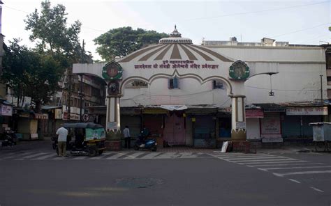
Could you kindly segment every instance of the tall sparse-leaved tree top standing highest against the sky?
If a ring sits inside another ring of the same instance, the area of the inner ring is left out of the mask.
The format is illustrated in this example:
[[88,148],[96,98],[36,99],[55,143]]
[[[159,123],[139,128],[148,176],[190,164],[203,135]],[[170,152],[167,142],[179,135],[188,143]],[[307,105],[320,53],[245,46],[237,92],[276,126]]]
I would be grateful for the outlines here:
[[51,8],[50,1],[41,2],[41,13],[34,10],[24,22],[26,30],[31,31],[29,39],[37,42],[40,50],[51,55],[66,57],[67,66],[78,63],[84,57],[80,46],[79,33],[82,24],[77,20],[67,27],[66,7],[58,4]]

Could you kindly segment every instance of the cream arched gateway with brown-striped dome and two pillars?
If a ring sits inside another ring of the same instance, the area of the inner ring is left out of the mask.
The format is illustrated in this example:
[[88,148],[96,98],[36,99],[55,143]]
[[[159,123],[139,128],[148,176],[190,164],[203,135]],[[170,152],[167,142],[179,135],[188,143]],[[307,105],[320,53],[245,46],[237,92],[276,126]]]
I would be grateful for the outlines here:
[[[229,56],[215,52],[213,49],[193,45],[190,39],[182,38],[177,29],[170,33],[169,38],[161,39],[158,45],[140,49],[116,62],[112,62],[112,64],[117,65],[112,66],[112,68],[120,68],[121,77],[117,78],[118,73],[116,73],[116,78],[110,77],[112,75],[112,72],[110,72],[111,67],[107,68],[108,65],[105,65],[105,63],[78,64],[73,67],[76,73],[94,74],[104,78],[104,74],[108,74],[109,71],[110,76],[106,76],[105,81],[108,82],[108,90],[112,89],[113,92],[108,93],[106,101],[106,127],[108,129],[120,128],[120,104],[122,104],[120,102],[131,98],[134,93],[144,93],[140,89],[139,92],[135,90],[131,91],[133,93],[132,95],[129,94],[126,89],[128,82],[133,80],[144,81],[148,84],[147,88],[145,88],[146,93],[152,95],[159,94],[164,97],[163,99],[166,99],[165,97],[171,98],[179,97],[180,95],[190,95],[194,92],[199,93],[200,90],[201,93],[204,91],[208,92],[207,83],[213,80],[219,80],[223,82],[226,88],[226,94],[224,93],[223,95],[231,99],[229,104],[232,106],[231,138],[233,140],[246,139],[244,82],[249,77],[257,74],[278,72],[277,63],[245,63],[240,61],[240,59],[230,58]],[[185,81],[185,89],[169,90],[169,85],[166,86],[164,82],[173,78]],[[197,86],[196,82],[200,86]],[[117,88],[117,92],[115,90],[115,83],[119,87]],[[182,106],[197,105],[199,102],[205,105],[204,103],[207,102],[207,98],[209,98],[207,95],[205,97],[196,95],[196,98],[191,97],[190,100],[178,102]],[[216,97],[212,98],[215,99],[214,102],[211,102],[212,104],[221,105],[221,102],[216,102]],[[178,102],[168,100],[153,102],[151,100],[142,106],[151,106],[151,104],[155,106],[154,103],[170,106]],[[207,102],[207,104],[210,104],[210,102]],[[194,122],[195,118],[191,118],[191,120]]]

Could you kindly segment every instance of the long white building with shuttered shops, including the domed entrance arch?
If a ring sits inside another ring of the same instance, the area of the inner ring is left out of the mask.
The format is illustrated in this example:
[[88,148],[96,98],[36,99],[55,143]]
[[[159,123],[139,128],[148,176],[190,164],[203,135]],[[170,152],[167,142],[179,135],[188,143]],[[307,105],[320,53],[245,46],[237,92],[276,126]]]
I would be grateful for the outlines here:
[[146,125],[160,141],[207,147],[300,136],[290,125],[311,135],[307,122],[328,119],[325,65],[324,47],[269,38],[193,45],[175,28],[159,45],[107,64],[74,64],[73,73],[107,82],[106,106],[91,108],[107,129],[128,125],[137,136]]

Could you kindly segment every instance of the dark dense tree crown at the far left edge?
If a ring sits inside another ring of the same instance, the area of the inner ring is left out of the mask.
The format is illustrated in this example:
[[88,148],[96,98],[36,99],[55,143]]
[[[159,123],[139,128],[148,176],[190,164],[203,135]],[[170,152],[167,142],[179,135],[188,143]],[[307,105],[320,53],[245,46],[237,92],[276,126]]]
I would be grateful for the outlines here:
[[19,42],[14,39],[4,52],[2,79],[13,88],[15,97],[31,97],[36,111],[41,112],[41,105],[59,89],[64,67],[56,56],[20,46]]

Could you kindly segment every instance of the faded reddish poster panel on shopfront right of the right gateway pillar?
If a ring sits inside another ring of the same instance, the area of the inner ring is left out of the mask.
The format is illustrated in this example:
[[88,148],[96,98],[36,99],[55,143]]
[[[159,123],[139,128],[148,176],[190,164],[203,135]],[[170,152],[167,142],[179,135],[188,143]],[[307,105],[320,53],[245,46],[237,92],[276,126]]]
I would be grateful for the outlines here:
[[260,119],[261,134],[281,134],[279,114],[267,115]]

